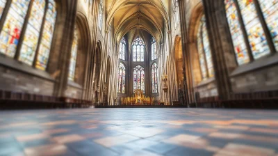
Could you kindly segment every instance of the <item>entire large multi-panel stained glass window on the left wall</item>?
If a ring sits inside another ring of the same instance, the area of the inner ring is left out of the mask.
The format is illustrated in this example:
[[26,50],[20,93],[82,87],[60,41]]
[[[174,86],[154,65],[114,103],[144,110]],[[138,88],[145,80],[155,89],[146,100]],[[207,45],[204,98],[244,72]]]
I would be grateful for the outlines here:
[[[5,18],[0,33],[0,52],[45,70],[56,22],[54,0],[12,1],[6,17],[3,17],[5,4],[6,1],[0,1],[0,16]],[[30,15],[26,18],[28,10]]]

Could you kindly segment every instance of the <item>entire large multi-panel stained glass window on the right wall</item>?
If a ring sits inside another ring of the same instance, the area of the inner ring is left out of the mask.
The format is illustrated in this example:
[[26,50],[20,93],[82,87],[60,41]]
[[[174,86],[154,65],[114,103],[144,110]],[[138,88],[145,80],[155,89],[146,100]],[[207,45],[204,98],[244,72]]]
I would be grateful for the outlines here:
[[[225,0],[224,2],[239,65],[270,54],[270,46],[278,49],[277,1]],[[260,18],[261,13],[264,18]],[[267,25],[263,26],[265,23]],[[268,42],[270,40],[272,42]]]

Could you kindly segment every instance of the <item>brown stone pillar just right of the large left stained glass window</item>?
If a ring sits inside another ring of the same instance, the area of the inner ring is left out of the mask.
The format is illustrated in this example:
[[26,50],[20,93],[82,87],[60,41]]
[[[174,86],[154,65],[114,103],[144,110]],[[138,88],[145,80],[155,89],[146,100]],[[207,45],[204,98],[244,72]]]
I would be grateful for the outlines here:
[[[72,42],[74,39],[74,26],[76,21],[76,6],[77,0],[62,1],[60,6],[61,12],[65,13],[60,15],[59,23],[63,24],[63,28],[59,27],[60,36],[57,38],[57,42],[54,48],[54,54],[49,59],[49,65],[57,63],[56,84],[54,86],[54,96],[63,97],[67,89],[67,77],[70,67],[70,56],[72,52]],[[58,41],[60,40],[60,41]],[[57,57],[55,59],[55,57]],[[54,69],[49,69],[50,73],[53,73]]]

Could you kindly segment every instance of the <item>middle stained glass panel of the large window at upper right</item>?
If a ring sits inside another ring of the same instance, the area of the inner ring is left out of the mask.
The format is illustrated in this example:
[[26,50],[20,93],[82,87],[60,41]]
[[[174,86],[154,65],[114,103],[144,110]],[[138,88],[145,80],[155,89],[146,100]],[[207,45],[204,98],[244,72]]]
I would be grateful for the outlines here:
[[270,54],[268,42],[253,0],[238,1],[254,59]]

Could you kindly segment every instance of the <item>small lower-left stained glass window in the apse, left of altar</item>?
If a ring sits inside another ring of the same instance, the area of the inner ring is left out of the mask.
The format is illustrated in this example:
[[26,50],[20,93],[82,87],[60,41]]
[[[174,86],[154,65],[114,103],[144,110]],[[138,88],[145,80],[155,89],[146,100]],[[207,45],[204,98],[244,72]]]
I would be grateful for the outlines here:
[[119,64],[118,71],[118,84],[117,84],[117,93],[125,93],[126,88],[126,67],[123,63]]

